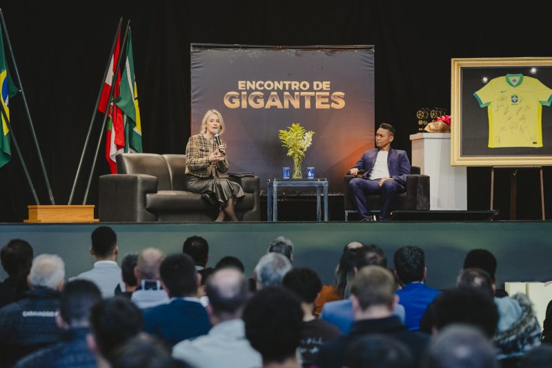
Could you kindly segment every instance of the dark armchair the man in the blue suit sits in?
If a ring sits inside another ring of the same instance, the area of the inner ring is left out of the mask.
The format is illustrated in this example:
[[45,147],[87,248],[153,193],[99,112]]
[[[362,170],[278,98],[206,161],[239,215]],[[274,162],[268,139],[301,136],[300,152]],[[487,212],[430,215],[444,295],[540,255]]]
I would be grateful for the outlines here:
[[[353,179],[353,175],[345,175],[345,221],[348,214],[357,212],[353,204],[353,193],[349,188],[349,182]],[[366,195],[366,203],[368,209],[373,212],[379,212],[382,208],[382,200],[380,195]],[[418,166],[411,166],[411,174],[406,177],[406,192],[397,194],[393,210],[408,210],[408,211],[428,211],[429,209],[429,177],[428,175],[420,175]]]

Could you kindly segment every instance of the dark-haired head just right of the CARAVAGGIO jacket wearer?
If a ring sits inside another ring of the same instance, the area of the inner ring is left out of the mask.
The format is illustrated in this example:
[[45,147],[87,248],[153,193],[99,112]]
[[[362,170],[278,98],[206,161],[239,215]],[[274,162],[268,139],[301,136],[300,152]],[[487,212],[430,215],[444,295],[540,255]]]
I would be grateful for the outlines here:
[[65,284],[59,299],[59,313],[72,328],[88,327],[90,311],[101,300],[101,291],[88,280],[72,280]]

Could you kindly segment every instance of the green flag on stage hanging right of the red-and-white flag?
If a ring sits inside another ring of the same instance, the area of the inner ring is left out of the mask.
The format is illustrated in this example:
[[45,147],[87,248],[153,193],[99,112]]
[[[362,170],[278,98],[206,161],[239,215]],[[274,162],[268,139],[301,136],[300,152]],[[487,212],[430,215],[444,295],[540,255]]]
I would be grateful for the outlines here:
[[134,74],[134,58],[132,57],[132,32],[128,30],[126,43],[126,62],[121,84],[119,84],[119,98],[115,104],[124,113],[125,152],[144,152],[142,150],[142,130],[140,110],[138,108],[138,89]]

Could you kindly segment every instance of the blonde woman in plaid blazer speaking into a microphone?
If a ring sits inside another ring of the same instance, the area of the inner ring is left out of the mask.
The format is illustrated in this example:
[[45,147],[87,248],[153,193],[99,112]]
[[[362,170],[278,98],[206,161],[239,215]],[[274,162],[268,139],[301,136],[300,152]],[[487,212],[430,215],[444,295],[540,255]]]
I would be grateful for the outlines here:
[[217,144],[215,133],[222,135],[225,126],[222,115],[217,110],[208,110],[201,121],[201,131],[193,135],[186,145],[186,189],[194,193],[204,193],[213,203],[220,205],[215,221],[237,221],[235,204],[244,197],[242,186],[219,177],[228,171],[226,142]]

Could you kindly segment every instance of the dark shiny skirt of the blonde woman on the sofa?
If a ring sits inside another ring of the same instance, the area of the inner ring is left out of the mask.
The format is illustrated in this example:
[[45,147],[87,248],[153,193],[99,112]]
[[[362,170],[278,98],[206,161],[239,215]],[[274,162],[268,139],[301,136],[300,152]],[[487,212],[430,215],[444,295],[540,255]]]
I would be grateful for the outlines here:
[[187,174],[184,177],[184,185],[190,192],[206,194],[213,204],[225,204],[232,197],[245,197],[242,186],[224,177],[204,179]]

